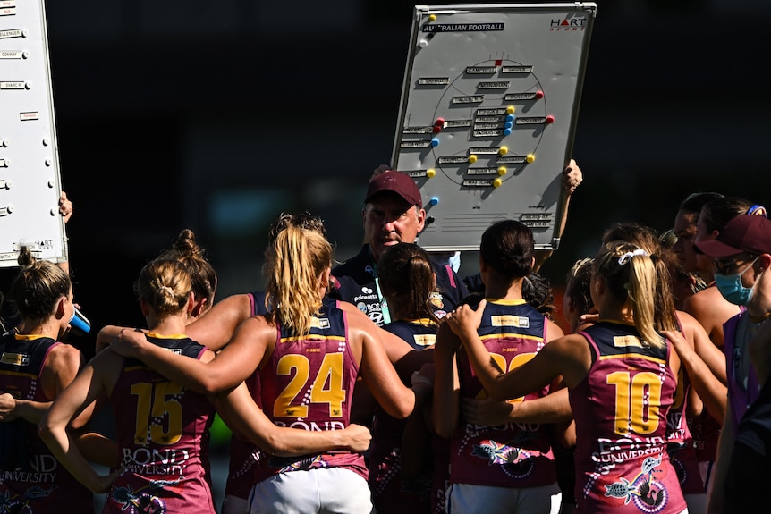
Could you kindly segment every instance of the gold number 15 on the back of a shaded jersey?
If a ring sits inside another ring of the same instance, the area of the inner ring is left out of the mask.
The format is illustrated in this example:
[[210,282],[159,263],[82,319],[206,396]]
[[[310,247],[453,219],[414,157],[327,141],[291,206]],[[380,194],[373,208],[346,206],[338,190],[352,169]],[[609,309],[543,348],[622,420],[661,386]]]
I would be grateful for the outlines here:
[[[176,398],[182,393],[178,383],[135,383],[131,394],[137,396],[137,426],[134,443],[174,444],[182,436],[182,405]],[[149,425],[150,417],[165,417],[165,424]]]

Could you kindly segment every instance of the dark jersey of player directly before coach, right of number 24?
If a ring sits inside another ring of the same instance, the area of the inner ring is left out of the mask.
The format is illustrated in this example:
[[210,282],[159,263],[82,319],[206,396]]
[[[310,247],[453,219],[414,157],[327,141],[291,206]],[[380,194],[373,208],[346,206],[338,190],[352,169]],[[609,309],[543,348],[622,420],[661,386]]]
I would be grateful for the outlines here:
[[[400,320],[383,326],[384,330],[401,337],[415,350],[424,350],[427,346],[434,344],[436,328],[436,324],[428,319],[414,322]],[[405,385],[409,387],[409,384]],[[430,440],[433,431],[428,429],[429,434],[425,437],[426,446],[422,449],[426,470],[409,480],[404,479],[402,477],[402,436],[405,426],[407,426],[407,420],[391,417],[380,405],[375,406],[372,444],[369,447],[367,462],[372,503],[377,512],[427,514],[429,511],[434,511],[430,510],[435,499],[432,495],[432,486],[436,480],[432,465],[442,459],[433,454],[435,448]],[[447,450],[448,448],[445,447],[445,454]],[[444,475],[440,474],[440,483],[444,481]]]

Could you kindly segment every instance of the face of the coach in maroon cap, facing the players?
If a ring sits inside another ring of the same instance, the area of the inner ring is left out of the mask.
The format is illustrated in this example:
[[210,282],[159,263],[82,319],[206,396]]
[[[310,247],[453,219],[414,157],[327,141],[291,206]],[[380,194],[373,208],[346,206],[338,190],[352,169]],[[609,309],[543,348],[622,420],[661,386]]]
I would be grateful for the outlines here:
[[376,261],[386,247],[414,243],[426,224],[425,210],[388,191],[371,198],[362,215],[364,240]]

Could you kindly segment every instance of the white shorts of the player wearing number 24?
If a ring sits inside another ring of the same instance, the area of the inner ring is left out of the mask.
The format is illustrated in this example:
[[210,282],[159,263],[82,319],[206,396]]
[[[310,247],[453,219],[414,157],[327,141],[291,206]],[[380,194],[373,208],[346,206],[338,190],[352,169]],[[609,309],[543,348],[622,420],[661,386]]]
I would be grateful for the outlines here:
[[250,514],[374,514],[369,485],[343,468],[271,476],[251,488]]

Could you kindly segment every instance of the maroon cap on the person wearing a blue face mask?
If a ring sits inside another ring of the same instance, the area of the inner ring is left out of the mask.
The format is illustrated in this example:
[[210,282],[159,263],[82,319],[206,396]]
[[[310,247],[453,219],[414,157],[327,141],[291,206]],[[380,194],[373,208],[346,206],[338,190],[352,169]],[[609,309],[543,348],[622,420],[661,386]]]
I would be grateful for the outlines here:
[[742,252],[771,254],[771,220],[762,215],[738,215],[716,239],[694,243],[707,257],[731,257]]

